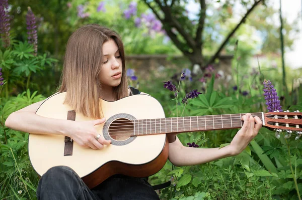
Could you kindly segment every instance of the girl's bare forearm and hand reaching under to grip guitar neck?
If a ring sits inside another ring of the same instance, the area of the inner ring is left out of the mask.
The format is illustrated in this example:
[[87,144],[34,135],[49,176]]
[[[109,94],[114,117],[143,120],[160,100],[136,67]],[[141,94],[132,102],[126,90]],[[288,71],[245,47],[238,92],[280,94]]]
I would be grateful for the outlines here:
[[242,128],[237,132],[231,144],[223,148],[185,147],[176,137],[176,140],[169,145],[169,160],[176,166],[188,166],[240,154],[262,126],[260,118],[252,117],[250,113],[242,116],[242,120],[244,121]]

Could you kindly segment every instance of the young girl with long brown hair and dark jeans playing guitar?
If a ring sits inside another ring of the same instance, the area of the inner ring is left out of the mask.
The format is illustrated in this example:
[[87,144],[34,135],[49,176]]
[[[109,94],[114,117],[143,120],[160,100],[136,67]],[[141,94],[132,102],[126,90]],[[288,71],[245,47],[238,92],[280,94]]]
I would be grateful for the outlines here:
[[[99,135],[95,126],[101,119],[99,98],[116,101],[132,94],[125,70],[123,43],[112,30],[99,25],[86,25],[68,40],[61,85],[66,92],[65,104],[91,121],[52,119],[35,114],[44,102],[34,103],[12,113],[6,126],[29,133],[68,136],[85,148],[102,149],[111,145]],[[242,116],[243,127],[229,146],[223,148],[185,147],[176,135],[169,135],[169,160],[176,166],[196,165],[241,153],[262,126],[259,117]],[[114,175],[89,189],[71,168],[50,168],[40,179],[38,199],[159,199],[144,178]]]

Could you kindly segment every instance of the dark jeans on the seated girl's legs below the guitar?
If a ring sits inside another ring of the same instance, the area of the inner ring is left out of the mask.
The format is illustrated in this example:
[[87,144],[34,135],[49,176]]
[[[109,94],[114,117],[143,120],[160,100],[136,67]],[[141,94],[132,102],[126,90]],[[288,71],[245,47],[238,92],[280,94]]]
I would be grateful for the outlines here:
[[40,179],[37,198],[46,199],[160,199],[143,178],[114,175],[89,189],[77,173],[67,166],[50,168]]

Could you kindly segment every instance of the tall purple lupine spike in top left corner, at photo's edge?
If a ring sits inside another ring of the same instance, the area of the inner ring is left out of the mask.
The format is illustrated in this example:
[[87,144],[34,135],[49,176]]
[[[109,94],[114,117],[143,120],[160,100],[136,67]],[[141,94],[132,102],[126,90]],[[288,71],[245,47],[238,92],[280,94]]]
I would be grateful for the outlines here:
[[8,14],[8,0],[0,0],[0,34],[3,47],[8,48],[10,44],[11,16]]

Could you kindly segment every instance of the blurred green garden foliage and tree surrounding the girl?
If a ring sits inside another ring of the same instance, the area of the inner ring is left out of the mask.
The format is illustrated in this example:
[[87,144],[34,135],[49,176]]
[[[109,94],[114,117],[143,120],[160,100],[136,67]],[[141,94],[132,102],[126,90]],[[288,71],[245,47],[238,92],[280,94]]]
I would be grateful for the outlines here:
[[[192,3],[199,8],[197,13],[188,10]],[[277,89],[283,110],[301,110],[301,69],[282,62],[283,51],[289,51],[301,34],[301,16],[289,22],[273,7],[276,3],[1,0],[0,198],[36,198],[38,177],[28,158],[28,133],[8,129],[5,120],[56,92],[67,40],[85,24],[103,25],[120,34],[127,61],[131,60],[126,62],[132,70],[130,85],[157,98],[167,117],[266,112],[264,79]],[[157,56],[167,58],[165,65]],[[229,64],[221,64],[222,56]],[[143,66],[141,57],[155,64]],[[182,72],[187,76],[179,81]],[[168,80],[180,86],[176,101],[163,87]],[[193,89],[203,94],[182,104]],[[179,138],[184,145],[219,147],[230,143],[236,132],[184,133]],[[296,135],[287,136],[276,139],[274,131],[262,128],[238,156],[190,167],[168,161],[149,182],[172,181],[158,191],[161,199],[300,199],[302,146]]]

